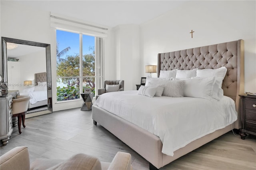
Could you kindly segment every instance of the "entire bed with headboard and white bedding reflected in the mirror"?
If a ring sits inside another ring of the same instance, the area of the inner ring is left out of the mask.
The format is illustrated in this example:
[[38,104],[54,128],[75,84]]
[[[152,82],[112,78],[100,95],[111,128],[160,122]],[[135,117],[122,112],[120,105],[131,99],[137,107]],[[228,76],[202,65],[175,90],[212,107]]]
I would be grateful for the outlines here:
[[20,95],[30,96],[28,111],[47,106],[46,72],[36,73],[34,86],[26,87]]

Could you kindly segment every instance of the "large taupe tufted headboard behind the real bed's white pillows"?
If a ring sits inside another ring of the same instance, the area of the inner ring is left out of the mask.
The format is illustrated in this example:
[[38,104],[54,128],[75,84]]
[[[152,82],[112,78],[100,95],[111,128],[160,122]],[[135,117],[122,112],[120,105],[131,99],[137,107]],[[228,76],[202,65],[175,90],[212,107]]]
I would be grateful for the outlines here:
[[238,121],[235,128],[239,129],[241,116],[238,94],[244,93],[244,40],[160,53],[157,76],[159,77],[160,70],[216,69],[222,66],[228,69],[222,89],[225,96],[236,102]]

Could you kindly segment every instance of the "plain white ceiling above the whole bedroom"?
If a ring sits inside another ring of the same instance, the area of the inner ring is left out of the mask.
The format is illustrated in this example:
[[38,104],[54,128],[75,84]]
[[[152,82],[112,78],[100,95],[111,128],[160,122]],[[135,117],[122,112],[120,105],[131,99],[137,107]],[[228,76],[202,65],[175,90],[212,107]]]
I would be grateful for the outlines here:
[[[2,1],[2,0],[1,0]],[[54,12],[108,27],[142,24],[187,2],[185,0],[18,0],[18,6]]]

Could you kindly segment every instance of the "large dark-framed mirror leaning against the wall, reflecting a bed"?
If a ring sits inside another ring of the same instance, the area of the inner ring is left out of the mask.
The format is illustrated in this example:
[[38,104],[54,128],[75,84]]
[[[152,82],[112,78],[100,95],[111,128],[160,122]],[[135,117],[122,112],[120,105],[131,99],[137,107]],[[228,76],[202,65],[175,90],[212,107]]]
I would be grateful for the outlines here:
[[52,112],[50,44],[2,37],[2,64],[8,90],[30,96],[26,118]]

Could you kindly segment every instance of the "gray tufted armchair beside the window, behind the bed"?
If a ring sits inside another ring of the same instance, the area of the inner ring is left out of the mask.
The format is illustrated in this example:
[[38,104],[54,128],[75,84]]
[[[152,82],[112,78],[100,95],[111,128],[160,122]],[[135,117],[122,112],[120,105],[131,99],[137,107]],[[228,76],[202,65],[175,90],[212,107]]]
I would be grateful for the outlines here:
[[116,88],[115,91],[124,91],[124,80],[105,80],[104,81],[104,88],[98,89],[98,95],[96,96],[97,98],[100,96],[100,94],[106,93],[106,92],[113,92],[112,89],[108,89],[108,85],[119,85],[118,88]]

